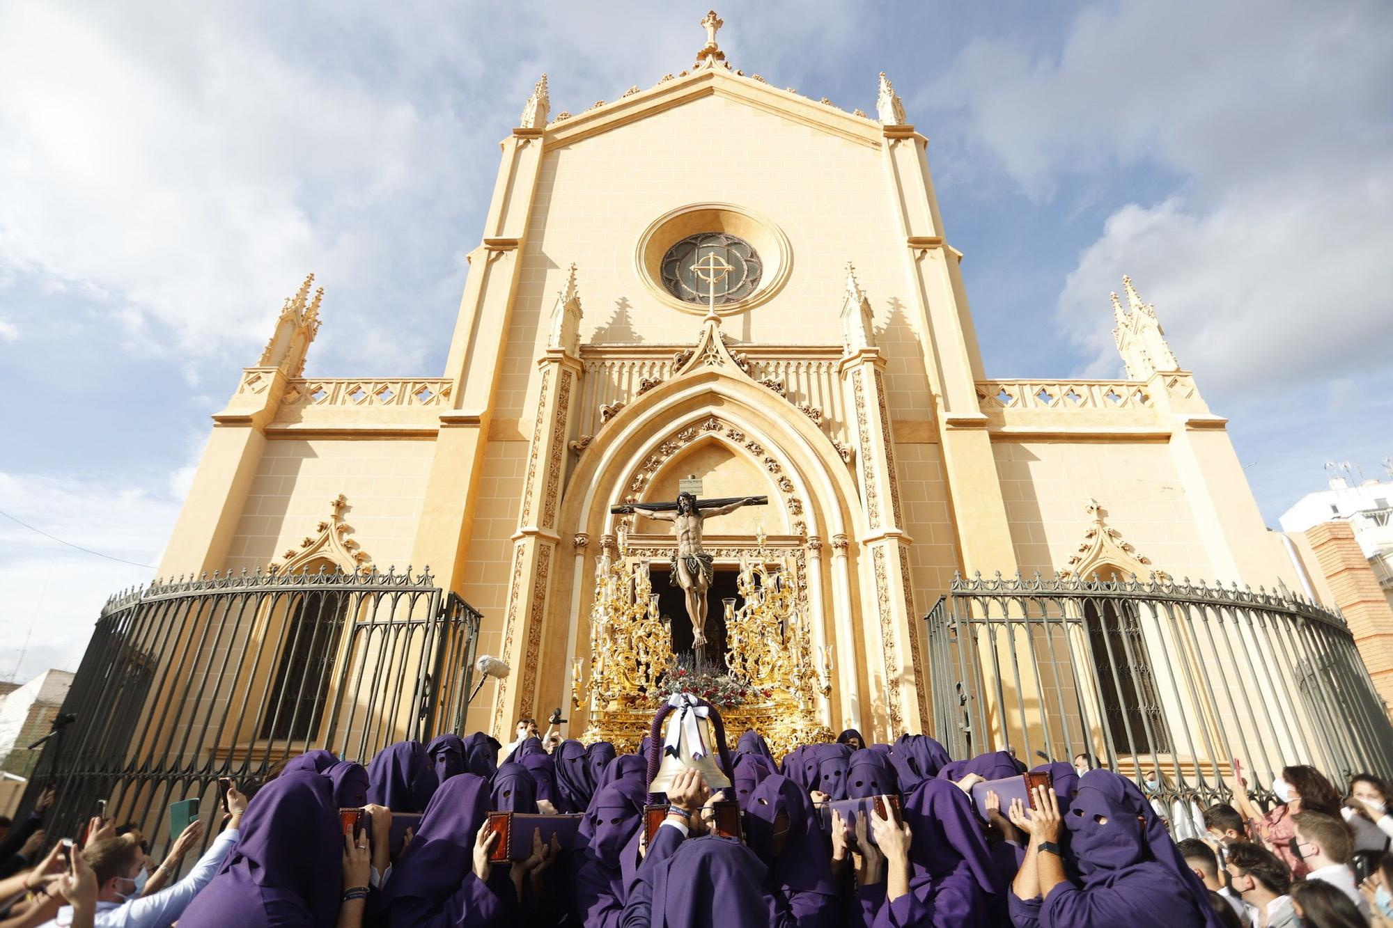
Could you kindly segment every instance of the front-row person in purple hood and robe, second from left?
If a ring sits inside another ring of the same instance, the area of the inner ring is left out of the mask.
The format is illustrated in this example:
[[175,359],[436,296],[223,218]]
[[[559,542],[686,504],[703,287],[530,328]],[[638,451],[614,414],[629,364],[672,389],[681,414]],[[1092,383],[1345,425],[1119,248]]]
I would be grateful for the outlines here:
[[489,783],[483,778],[460,773],[440,784],[383,889],[382,907],[391,928],[515,922],[511,886],[500,896],[474,874],[474,839],[488,812]]

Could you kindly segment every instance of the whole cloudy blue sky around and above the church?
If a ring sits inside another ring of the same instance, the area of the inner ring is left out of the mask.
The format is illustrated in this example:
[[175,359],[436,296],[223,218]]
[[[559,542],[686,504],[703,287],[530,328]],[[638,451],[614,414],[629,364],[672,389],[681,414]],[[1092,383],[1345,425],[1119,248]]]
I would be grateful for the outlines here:
[[[0,6],[0,510],[156,563],[209,414],[311,270],[309,372],[437,375],[532,82],[553,111],[651,86],[706,6]],[[1393,454],[1389,4],[720,14],[779,86],[873,111],[894,81],[989,376],[1121,376],[1130,273],[1269,524],[1325,460]],[[75,667],[149,574],[0,517],[0,679]]]

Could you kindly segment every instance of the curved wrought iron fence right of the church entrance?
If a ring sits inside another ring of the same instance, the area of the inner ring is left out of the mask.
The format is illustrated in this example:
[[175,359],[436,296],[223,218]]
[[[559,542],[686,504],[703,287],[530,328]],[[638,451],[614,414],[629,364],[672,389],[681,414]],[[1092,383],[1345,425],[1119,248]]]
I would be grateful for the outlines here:
[[1284,765],[1393,775],[1393,726],[1339,613],[1169,581],[957,578],[926,616],[935,730],[954,757],[1081,752],[1166,803],[1255,798]]

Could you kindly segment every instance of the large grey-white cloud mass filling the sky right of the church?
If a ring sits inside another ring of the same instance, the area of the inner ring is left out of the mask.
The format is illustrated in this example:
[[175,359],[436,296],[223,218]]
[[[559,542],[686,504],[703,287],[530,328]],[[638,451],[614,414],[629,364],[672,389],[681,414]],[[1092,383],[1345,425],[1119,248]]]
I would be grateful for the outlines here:
[[974,139],[1032,198],[1119,169],[1178,178],[1116,209],[1061,288],[1091,373],[1120,368],[1107,293],[1123,273],[1211,399],[1382,369],[1389,47],[1386,4],[1287,0],[1121,3],[1081,13],[1057,54],[964,49],[953,86]]

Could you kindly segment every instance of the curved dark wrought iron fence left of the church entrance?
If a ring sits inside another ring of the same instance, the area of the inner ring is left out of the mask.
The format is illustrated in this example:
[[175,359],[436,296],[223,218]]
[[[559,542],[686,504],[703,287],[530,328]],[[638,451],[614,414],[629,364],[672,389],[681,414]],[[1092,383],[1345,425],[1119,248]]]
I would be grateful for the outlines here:
[[198,796],[216,823],[217,778],[255,787],[311,748],[366,764],[458,732],[479,620],[410,571],[215,574],[113,598],[63,702],[75,720],[43,747],[21,808],[52,783],[50,836],[109,800],[163,844],[171,801]]

